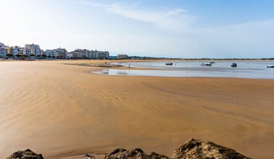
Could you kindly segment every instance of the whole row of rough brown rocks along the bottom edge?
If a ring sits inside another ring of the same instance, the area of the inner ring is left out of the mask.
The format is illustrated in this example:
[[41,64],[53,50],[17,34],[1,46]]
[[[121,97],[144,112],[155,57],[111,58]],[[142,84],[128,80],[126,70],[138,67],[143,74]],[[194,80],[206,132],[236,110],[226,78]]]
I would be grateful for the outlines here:
[[[185,143],[177,148],[172,159],[250,159],[236,150],[219,146],[210,141],[202,141],[194,138],[188,139]],[[17,151],[6,159],[43,159],[41,154],[33,153],[31,150]],[[92,155],[85,154],[82,159],[96,159]],[[126,150],[124,148],[117,148],[113,152],[102,155],[97,159],[168,159],[165,155],[160,155],[154,152],[144,153],[140,148],[134,150]]]

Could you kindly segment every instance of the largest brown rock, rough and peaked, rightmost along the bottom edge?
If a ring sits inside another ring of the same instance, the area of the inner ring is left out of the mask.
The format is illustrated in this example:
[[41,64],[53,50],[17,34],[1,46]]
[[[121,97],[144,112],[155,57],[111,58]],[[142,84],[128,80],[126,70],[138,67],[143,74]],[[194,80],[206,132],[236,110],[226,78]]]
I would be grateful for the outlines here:
[[236,150],[233,150],[231,148],[226,148],[210,141],[202,141],[194,138],[188,139],[185,143],[182,143],[182,145],[174,151],[172,159],[177,158],[249,159],[248,157],[237,153]]

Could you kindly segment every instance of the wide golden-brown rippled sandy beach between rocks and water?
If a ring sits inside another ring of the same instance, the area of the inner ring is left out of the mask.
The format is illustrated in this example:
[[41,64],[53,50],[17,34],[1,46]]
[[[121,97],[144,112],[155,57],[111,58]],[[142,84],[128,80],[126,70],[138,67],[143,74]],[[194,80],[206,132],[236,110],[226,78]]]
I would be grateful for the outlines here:
[[104,62],[115,61],[0,62],[0,158],[26,148],[44,158],[171,156],[187,138],[274,158],[274,80],[90,73]]

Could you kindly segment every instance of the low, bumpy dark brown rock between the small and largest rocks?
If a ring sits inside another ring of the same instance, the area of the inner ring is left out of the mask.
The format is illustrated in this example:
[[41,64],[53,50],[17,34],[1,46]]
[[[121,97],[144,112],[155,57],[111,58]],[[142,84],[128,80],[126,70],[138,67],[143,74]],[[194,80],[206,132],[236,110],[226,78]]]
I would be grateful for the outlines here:
[[112,153],[108,155],[102,155],[98,159],[168,159],[165,155],[160,155],[158,153],[149,152],[143,153],[141,148],[136,148],[134,150],[126,150],[124,148],[115,149]]

